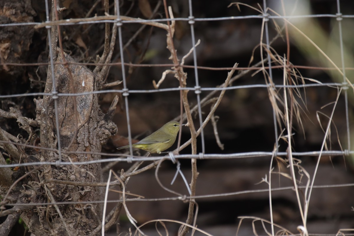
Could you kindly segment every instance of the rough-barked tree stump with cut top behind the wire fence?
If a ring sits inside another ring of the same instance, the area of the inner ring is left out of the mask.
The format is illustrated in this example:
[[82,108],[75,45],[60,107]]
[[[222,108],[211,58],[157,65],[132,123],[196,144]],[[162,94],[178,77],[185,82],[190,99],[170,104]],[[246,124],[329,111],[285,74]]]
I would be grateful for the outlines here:
[[[64,68],[62,64],[55,65],[55,87],[58,93],[84,93],[96,90],[96,76],[89,69],[80,65],[70,65],[70,62],[75,61],[68,55],[65,55],[65,61],[69,63],[68,69]],[[61,53],[58,55],[57,62],[63,63]],[[51,80],[50,74],[48,73],[48,80]],[[53,91],[52,83],[47,82],[45,93]],[[102,144],[115,134],[116,126],[112,122],[105,121],[104,114],[99,109],[98,95],[89,93],[75,97],[58,96],[59,127],[56,125],[55,99],[55,95],[35,99],[36,120],[40,124],[41,147],[58,149],[58,128],[63,150],[62,161],[99,160],[100,155],[68,153],[75,151],[101,152]],[[51,162],[59,160],[58,152],[51,150],[42,150],[37,158],[41,161]],[[100,163],[66,166],[46,165],[39,175],[40,182],[44,179],[73,182],[102,182],[103,180]],[[104,198],[103,187],[47,183],[44,188],[39,188],[41,185],[38,182],[32,182],[30,186],[44,193],[44,196],[36,196],[36,198],[42,198],[45,202],[90,202]],[[33,199],[33,195],[31,197],[28,198],[28,201]],[[87,203],[58,205],[58,208],[38,206],[35,211],[23,213],[21,217],[35,235],[87,235],[101,224],[102,211],[100,205]]]

